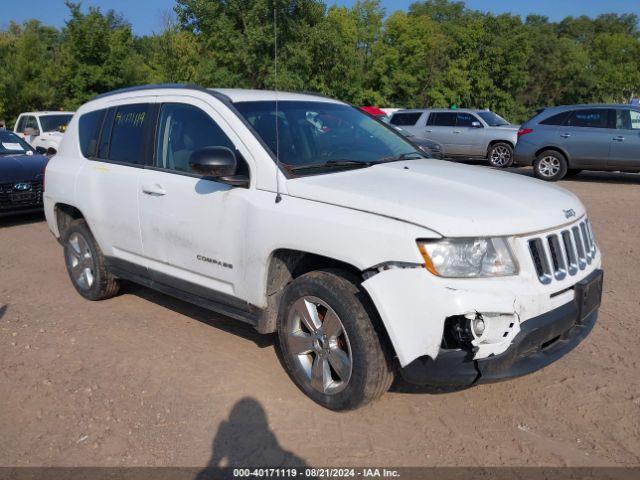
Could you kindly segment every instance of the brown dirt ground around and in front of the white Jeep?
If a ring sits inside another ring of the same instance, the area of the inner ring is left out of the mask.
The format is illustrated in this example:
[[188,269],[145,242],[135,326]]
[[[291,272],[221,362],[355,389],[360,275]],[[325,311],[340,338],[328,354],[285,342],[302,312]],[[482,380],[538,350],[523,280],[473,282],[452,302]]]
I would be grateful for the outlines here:
[[640,175],[561,186],[603,251],[590,337],[524,378],[342,414],[297,390],[273,337],[132,285],[85,301],[41,216],[0,219],[0,466],[639,465]]

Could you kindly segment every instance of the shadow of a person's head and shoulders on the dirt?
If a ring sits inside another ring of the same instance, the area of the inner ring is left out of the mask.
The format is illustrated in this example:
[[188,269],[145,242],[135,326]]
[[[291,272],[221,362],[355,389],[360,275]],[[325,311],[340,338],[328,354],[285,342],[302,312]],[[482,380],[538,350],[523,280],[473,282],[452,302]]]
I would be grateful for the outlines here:
[[220,424],[211,446],[211,458],[196,480],[217,478],[217,469],[221,467],[306,466],[302,458],[280,446],[260,403],[246,397],[233,406],[229,418]]

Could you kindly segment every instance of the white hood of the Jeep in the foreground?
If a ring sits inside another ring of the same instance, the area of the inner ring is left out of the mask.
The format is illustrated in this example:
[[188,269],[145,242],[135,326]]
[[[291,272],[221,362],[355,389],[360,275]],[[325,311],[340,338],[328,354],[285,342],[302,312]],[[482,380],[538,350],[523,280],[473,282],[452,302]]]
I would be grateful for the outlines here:
[[[547,230],[584,214],[572,193],[523,175],[410,160],[287,182],[294,197],[396,218],[446,237]],[[575,217],[567,218],[565,210]]]

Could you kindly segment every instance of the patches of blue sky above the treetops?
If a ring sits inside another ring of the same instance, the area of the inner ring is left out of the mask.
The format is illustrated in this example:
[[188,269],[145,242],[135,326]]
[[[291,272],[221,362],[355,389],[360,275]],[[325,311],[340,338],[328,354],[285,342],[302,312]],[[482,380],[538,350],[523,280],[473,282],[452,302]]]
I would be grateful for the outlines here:
[[[328,0],[328,4],[352,5],[355,0]],[[382,4],[390,13],[394,10],[406,9],[413,0],[382,0]],[[29,18],[37,18],[49,25],[61,26],[67,14],[64,0],[0,0],[4,4],[0,29],[5,28],[10,20],[22,22]],[[104,10],[113,8],[124,14],[131,22],[137,34],[152,33],[162,29],[162,13],[170,11],[174,0],[83,0],[82,4],[99,6]],[[526,16],[538,13],[559,20],[568,15],[595,16],[600,13],[635,13],[640,16],[640,0],[537,0],[522,2],[513,0],[467,0],[469,8],[490,11],[493,13],[510,12]]]

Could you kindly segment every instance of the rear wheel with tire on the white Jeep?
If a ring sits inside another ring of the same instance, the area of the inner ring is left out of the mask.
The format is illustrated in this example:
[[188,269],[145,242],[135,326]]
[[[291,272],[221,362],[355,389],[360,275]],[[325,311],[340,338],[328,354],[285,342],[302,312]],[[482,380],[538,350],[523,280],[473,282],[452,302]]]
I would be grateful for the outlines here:
[[118,293],[120,283],[109,272],[102,250],[84,220],[64,231],[64,260],[71,283],[87,300],[105,300]]

